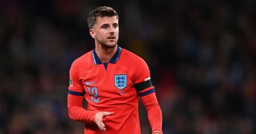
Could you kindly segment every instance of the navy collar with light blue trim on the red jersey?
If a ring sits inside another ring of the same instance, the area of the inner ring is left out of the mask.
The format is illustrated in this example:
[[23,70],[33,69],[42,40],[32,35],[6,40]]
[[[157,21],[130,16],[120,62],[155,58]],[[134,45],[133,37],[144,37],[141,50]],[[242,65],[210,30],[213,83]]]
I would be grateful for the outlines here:
[[[118,59],[120,57],[121,49],[122,48],[120,46],[118,46],[118,49],[114,53],[114,56],[110,59],[110,63],[114,64],[114,63],[116,63],[118,61]],[[99,60],[98,55],[97,55],[95,49],[93,50],[93,59],[94,59],[94,65],[102,64],[102,61]]]

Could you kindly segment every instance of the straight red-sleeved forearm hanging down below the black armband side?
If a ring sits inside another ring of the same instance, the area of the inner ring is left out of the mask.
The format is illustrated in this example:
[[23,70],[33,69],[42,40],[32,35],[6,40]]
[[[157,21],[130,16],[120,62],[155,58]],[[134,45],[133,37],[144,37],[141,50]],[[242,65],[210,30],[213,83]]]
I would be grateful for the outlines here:
[[152,128],[152,133],[162,133],[162,111],[159,107],[155,93],[151,93],[145,97],[141,97],[144,104]]

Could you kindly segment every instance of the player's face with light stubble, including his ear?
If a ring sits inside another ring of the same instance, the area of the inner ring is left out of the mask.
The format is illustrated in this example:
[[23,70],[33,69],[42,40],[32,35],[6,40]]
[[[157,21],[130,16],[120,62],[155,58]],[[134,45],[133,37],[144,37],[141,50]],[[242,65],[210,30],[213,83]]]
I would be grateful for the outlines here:
[[94,27],[90,29],[90,36],[95,39],[96,44],[113,48],[118,43],[118,18],[116,16],[98,17]]

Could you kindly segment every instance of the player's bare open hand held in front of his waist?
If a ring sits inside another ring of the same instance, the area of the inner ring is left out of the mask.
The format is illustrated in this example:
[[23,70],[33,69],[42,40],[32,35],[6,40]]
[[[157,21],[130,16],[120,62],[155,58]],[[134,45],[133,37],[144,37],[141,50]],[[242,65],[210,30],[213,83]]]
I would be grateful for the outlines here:
[[98,128],[100,128],[103,132],[106,131],[106,126],[102,121],[103,116],[109,116],[113,114],[114,112],[97,112],[94,116],[94,122],[98,125]]

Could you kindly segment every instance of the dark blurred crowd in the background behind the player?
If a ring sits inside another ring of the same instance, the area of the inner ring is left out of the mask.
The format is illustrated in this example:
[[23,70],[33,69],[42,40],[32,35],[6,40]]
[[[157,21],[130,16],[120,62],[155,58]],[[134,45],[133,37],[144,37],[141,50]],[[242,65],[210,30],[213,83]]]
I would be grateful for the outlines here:
[[1,0],[0,134],[83,132],[67,86],[72,61],[94,49],[97,6],[117,10],[118,45],[148,63],[164,133],[256,133],[254,0]]

